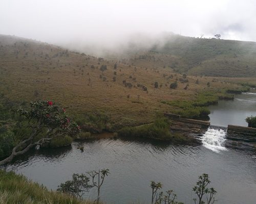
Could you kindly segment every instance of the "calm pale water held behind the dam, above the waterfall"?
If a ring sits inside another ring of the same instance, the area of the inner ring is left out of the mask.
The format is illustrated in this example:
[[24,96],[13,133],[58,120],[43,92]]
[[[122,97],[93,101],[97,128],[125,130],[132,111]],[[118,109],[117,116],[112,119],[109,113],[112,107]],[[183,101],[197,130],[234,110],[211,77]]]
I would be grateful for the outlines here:
[[218,105],[209,106],[210,123],[227,126],[228,124],[247,126],[245,118],[256,116],[256,91],[235,95],[234,100],[219,100]]

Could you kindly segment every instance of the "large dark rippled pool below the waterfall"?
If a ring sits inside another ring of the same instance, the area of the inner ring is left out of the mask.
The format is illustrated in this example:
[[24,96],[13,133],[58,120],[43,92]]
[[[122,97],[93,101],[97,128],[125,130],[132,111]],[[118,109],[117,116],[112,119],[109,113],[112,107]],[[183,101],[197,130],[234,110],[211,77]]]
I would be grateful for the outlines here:
[[[33,150],[6,166],[54,190],[72,173],[99,168],[111,171],[101,191],[101,199],[108,203],[149,203],[151,180],[162,182],[163,190],[175,190],[180,201],[193,203],[192,188],[204,172],[218,192],[217,203],[256,203],[256,156],[240,150],[101,139],[36,154]],[[91,190],[88,198],[95,199],[96,191]]]

